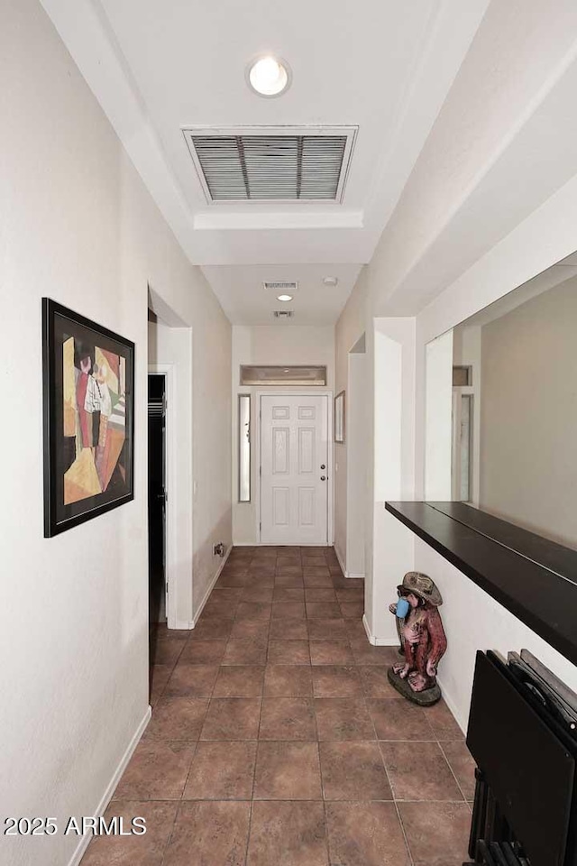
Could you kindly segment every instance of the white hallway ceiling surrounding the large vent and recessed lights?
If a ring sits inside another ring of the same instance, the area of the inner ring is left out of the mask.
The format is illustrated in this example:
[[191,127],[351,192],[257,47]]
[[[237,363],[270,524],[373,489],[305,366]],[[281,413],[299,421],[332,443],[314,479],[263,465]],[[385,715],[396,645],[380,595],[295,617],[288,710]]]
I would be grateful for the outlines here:
[[[229,318],[270,322],[261,281],[286,276],[301,286],[295,324],[328,324],[371,260],[489,0],[42,2]],[[292,69],[282,97],[246,85],[263,52]],[[207,203],[182,128],[279,124],[358,127],[342,202]]]

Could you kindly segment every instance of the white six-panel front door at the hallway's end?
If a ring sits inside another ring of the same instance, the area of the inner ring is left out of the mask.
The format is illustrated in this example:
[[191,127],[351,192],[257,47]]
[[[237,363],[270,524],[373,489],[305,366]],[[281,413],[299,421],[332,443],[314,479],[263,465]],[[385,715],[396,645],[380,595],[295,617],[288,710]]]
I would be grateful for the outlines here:
[[326,544],[328,398],[261,397],[261,541]]

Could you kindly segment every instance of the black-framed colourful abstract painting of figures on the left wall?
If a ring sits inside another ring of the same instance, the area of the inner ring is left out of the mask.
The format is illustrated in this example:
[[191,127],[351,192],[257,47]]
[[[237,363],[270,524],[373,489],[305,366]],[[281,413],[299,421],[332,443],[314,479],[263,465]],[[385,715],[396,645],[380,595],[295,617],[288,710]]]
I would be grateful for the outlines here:
[[44,537],[134,498],[134,344],[42,299]]

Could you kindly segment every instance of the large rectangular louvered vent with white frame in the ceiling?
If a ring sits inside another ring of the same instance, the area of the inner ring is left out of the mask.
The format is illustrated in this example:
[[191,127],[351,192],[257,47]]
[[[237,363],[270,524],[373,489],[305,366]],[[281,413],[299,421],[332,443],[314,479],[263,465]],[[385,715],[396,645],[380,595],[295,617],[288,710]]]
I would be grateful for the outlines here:
[[207,201],[342,201],[356,126],[182,130]]

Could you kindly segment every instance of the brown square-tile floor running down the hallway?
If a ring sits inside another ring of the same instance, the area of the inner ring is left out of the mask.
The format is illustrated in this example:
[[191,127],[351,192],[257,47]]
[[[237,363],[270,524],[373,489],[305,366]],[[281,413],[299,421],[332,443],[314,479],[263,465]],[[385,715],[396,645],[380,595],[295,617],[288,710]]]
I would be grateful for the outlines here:
[[192,632],[153,635],[151,723],[83,866],[461,866],[473,765],[389,686],[331,548],[234,548]]

